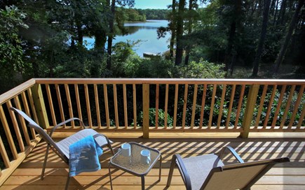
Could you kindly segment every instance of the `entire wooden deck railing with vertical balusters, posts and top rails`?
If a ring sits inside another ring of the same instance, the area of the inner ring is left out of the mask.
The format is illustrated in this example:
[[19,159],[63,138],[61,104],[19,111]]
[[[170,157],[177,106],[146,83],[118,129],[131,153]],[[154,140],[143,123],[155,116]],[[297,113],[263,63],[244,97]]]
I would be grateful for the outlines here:
[[[0,96],[0,185],[39,142],[8,108],[49,130],[79,117],[97,131],[305,132],[305,80],[32,79]],[[76,131],[72,122],[61,131]]]

